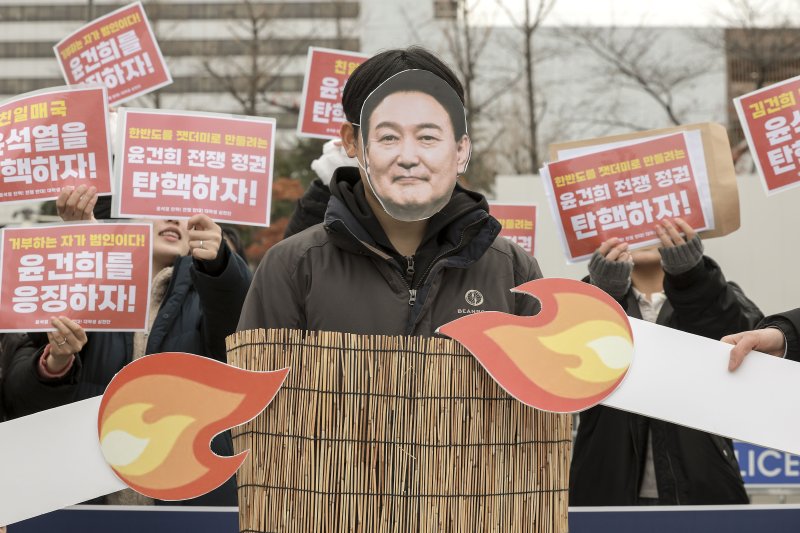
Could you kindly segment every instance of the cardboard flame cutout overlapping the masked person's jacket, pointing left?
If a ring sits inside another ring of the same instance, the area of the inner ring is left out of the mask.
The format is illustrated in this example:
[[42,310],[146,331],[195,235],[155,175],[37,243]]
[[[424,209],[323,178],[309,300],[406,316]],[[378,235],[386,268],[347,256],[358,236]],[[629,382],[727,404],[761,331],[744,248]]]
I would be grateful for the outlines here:
[[469,350],[519,401],[556,412],[599,403],[625,378],[633,333],[620,305],[581,281],[548,278],[512,290],[536,297],[532,317],[489,311],[438,329]]

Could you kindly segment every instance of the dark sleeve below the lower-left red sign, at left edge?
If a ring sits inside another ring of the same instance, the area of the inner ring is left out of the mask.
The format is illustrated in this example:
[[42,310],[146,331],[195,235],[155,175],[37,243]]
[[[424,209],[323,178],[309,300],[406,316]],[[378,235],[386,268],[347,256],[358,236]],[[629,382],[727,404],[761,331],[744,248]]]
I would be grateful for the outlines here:
[[3,349],[8,358],[2,399],[8,418],[30,415],[75,400],[81,371],[80,357],[75,358],[64,377],[46,379],[38,372],[43,346],[36,345],[27,335],[15,335],[13,339],[4,339]]

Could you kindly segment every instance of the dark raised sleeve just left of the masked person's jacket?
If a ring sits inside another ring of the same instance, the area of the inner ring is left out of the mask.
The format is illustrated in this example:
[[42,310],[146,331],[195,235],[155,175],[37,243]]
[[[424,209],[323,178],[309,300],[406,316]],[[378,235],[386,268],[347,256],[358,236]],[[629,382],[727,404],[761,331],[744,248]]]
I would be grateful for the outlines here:
[[200,297],[201,331],[208,354],[227,361],[225,337],[236,331],[252,275],[238,254],[227,252],[227,260],[216,275],[191,268],[192,283]]

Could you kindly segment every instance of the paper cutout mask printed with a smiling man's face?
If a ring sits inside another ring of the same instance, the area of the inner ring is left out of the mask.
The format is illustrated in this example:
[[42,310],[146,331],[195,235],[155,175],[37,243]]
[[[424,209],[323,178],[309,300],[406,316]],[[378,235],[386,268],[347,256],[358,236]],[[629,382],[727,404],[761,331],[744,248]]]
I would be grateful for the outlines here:
[[393,218],[424,220],[450,200],[472,151],[464,105],[426,70],[395,74],[364,101],[361,142],[367,182]]

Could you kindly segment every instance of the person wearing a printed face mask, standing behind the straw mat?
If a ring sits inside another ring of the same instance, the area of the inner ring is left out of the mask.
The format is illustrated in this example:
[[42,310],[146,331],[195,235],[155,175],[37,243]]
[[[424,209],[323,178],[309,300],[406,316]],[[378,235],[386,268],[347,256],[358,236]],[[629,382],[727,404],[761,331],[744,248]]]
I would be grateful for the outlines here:
[[541,277],[536,260],[457,185],[471,147],[453,72],[424,49],[390,50],[353,72],[342,102],[358,168],[334,172],[323,223],[265,255],[238,328],[430,336],[468,312],[533,314],[509,289]]

